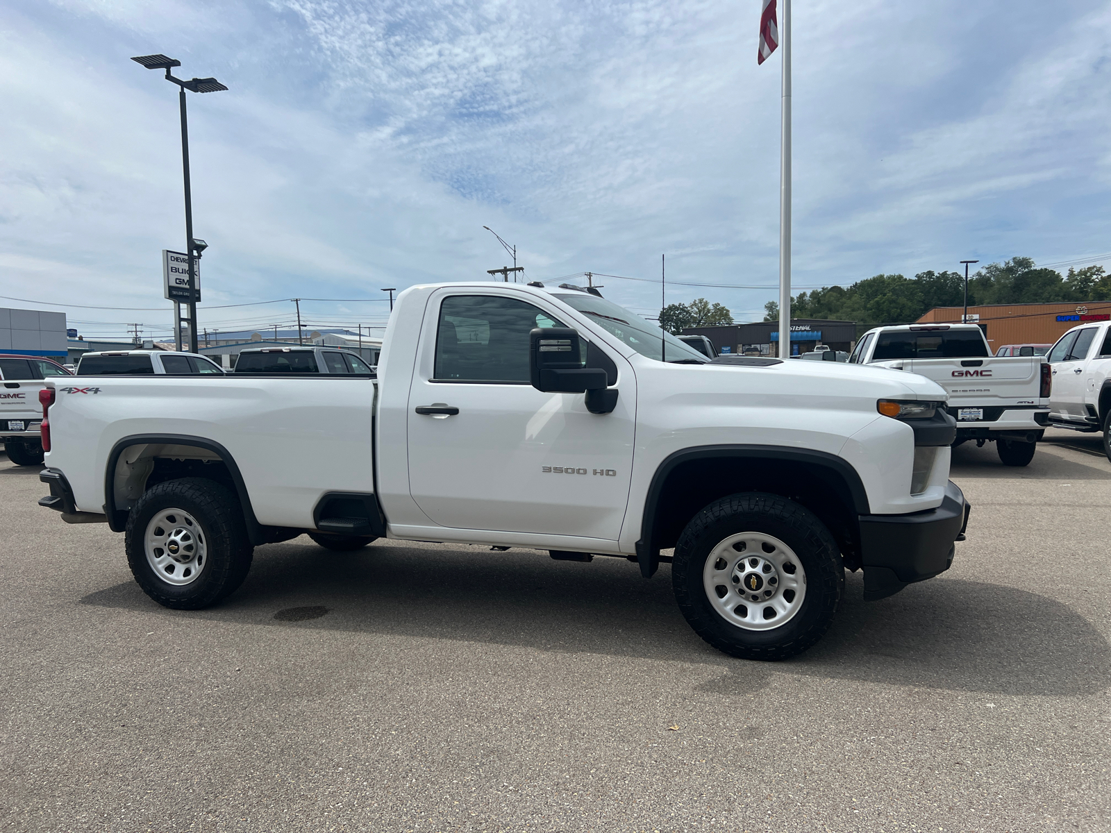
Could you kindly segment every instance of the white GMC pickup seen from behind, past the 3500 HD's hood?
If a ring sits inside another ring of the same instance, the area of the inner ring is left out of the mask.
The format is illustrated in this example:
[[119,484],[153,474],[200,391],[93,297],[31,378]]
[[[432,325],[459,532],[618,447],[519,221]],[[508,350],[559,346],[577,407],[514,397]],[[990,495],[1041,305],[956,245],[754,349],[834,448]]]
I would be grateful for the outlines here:
[[860,338],[849,361],[935,381],[949,394],[957,444],[994,442],[1004,465],[1029,464],[1049,424],[1045,358],[992,357],[975,324],[878,327]]

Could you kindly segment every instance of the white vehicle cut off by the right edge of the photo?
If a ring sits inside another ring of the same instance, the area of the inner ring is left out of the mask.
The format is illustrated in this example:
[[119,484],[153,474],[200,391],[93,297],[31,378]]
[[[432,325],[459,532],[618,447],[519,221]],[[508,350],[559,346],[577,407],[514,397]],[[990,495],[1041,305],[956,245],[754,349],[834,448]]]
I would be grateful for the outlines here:
[[1102,431],[1103,453],[1111,460],[1111,322],[1072,328],[1049,351],[1049,361],[1050,424]]

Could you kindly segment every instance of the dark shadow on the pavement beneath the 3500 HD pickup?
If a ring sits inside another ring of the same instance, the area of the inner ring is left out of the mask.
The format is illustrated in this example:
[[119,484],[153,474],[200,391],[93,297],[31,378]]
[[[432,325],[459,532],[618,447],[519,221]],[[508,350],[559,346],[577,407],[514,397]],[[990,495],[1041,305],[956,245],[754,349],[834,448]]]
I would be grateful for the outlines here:
[[[719,694],[762,689],[774,673],[1001,694],[1082,695],[1111,683],[1107,640],[1045,596],[944,576],[880,602],[862,601],[859,574],[845,590],[825,638],[783,663],[733,660],[703,643],[675,606],[667,566],[643,581],[617,559],[556,562],[523,550],[384,544],[332,553],[294,541],[259,548],[244,586],[218,608],[166,610],[133,583],[81,602],[171,619],[709,664],[723,674],[700,690]],[[297,621],[290,611],[309,606],[327,612]]]

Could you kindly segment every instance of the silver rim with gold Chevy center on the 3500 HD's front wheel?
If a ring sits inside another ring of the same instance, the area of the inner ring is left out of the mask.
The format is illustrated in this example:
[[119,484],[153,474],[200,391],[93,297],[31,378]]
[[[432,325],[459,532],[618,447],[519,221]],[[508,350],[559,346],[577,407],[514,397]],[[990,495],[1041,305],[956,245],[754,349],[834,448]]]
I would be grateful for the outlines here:
[[745,631],[790,622],[807,598],[807,572],[794,551],[774,535],[739,532],[707,556],[702,586],[718,615]]

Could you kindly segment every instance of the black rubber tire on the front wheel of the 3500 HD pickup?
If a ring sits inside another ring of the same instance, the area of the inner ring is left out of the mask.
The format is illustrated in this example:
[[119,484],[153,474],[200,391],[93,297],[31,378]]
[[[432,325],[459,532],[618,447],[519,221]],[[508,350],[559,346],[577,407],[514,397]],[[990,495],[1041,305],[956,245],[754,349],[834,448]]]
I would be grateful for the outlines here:
[[[780,626],[748,630],[730,623],[703,586],[708,558],[721,542],[742,532],[779,539],[801,563],[805,593],[798,611]],[[844,564],[833,536],[810,510],[775,494],[748,492],[711,503],[687,524],[675,545],[671,580],[687,622],[715,649],[744,660],[785,660],[829,630],[844,592]]]

